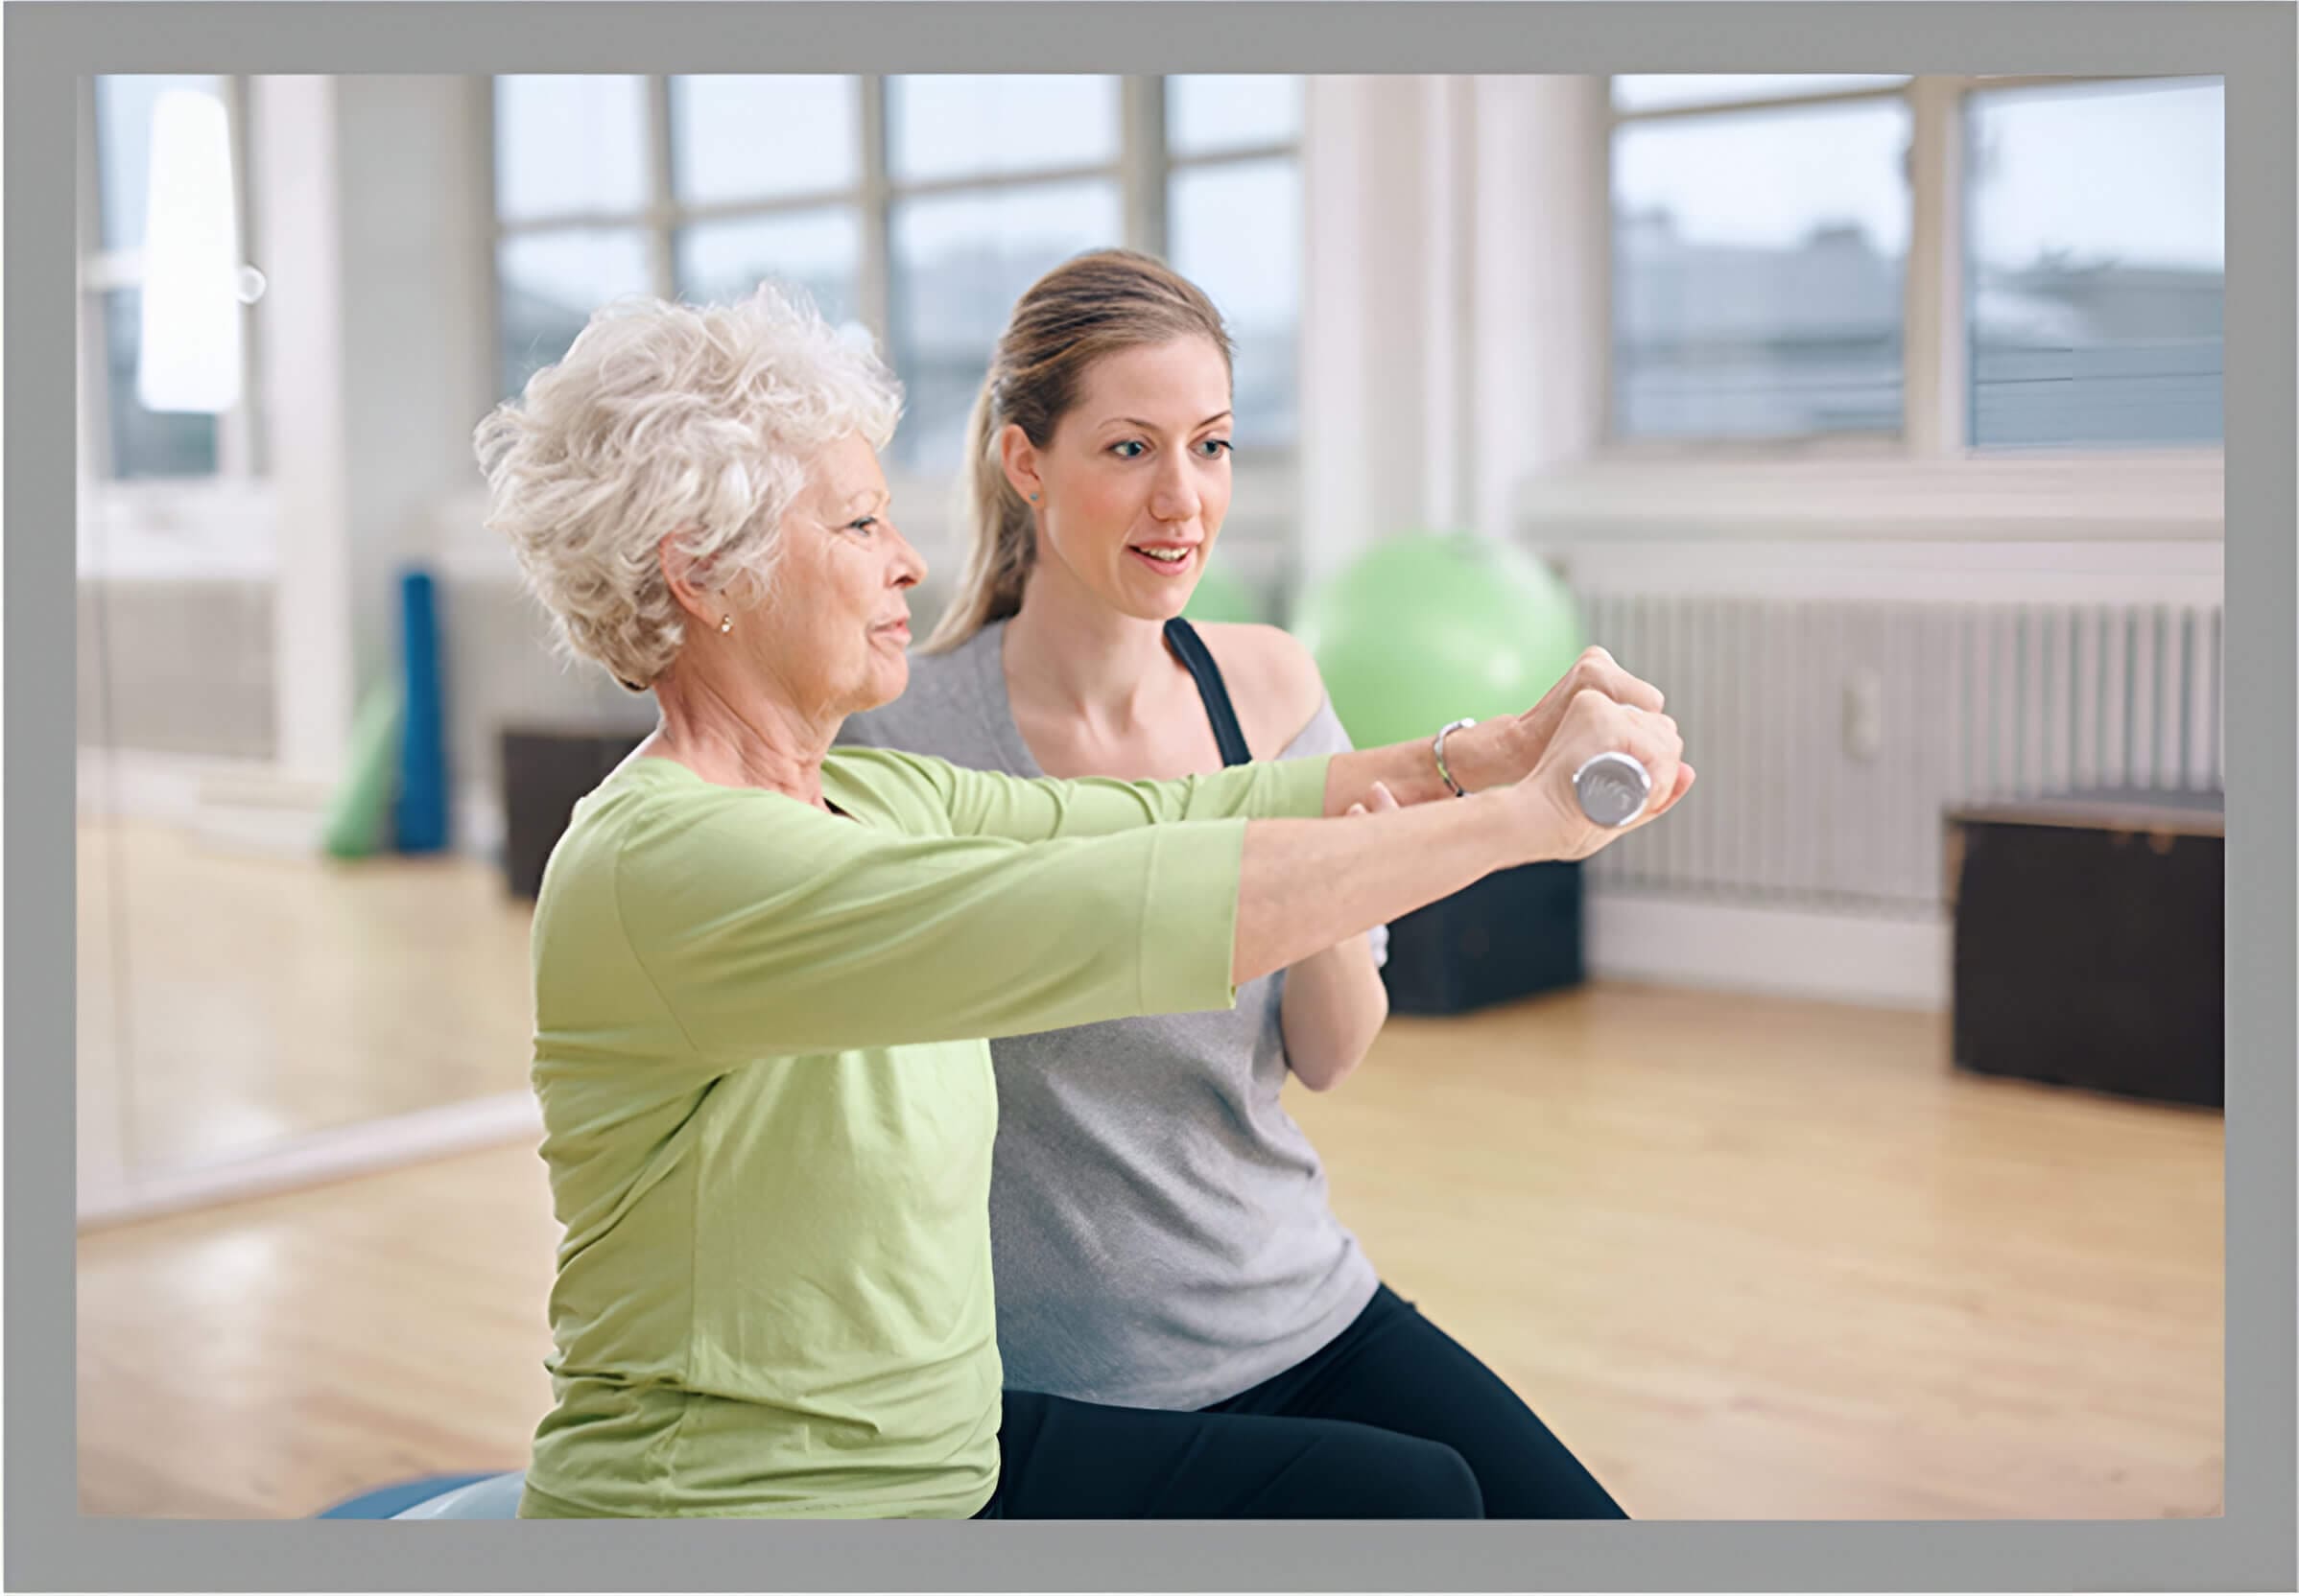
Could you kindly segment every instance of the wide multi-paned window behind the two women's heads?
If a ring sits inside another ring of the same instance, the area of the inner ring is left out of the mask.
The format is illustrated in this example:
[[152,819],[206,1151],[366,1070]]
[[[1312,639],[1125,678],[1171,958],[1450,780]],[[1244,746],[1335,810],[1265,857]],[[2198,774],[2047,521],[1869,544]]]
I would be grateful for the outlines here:
[[894,460],[959,465],[1014,299],[1110,244],[1166,255],[1237,340],[1239,446],[1294,439],[1299,78],[497,78],[506,391],[614,294],[802,283],[887,350]]

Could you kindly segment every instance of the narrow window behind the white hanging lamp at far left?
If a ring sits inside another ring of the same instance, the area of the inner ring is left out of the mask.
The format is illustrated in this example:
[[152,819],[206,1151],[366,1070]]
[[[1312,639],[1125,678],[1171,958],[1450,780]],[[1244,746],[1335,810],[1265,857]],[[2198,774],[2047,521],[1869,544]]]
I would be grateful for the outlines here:
[[[83,99],[80,350],[90,469],[113,481],[216,478],[253,469],[248,407],[223,416],[149,412],[136,400],[143,340],[143,248],[152,170],[152,108],[168,90],[218,99],[246,172],[244,94],[216,76],[99,76]],[[241,258],[248,198],[237,184]],[[248,350],[253,366],[253,347]]]

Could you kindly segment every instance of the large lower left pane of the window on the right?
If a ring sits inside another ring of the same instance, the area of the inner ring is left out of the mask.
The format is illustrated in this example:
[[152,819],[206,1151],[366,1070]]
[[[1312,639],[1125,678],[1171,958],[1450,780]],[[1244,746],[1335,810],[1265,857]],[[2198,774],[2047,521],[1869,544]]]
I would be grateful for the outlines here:
[[1897,430],[1906,101],[1614,133],[1614,432]]

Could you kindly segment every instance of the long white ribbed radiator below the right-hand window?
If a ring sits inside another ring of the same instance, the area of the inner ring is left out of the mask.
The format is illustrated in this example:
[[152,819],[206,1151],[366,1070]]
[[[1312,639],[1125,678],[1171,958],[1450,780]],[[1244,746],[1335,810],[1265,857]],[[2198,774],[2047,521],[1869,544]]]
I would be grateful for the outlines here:
[[1924,920],[1956,803],[2223,784],[2223,603],[2193,584],[2163,603],[1575,586],[1589,637],[1669,692],[1699,768],[1681,812],[1591,860],[1600,892]]

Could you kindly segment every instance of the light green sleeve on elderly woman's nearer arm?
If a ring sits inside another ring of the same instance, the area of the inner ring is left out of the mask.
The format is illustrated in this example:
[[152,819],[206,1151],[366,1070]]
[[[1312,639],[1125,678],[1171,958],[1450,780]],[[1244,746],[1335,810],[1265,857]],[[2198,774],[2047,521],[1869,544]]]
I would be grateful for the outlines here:
[[[853,819],[671,773],[651,787],[577,844],[612,858],[552,862],[540,922],[586,927],[586,947],[538,959],[538,980],[572,982],[543,1012],[579,1012],[586,966],[625,957],[614,943],[715,1060],[1235,1003],[1244,819],[1016,842],[906,823],[931,809],[890,782],[825,780]],[[1315,782],[1294,789],[1315,803]]]

